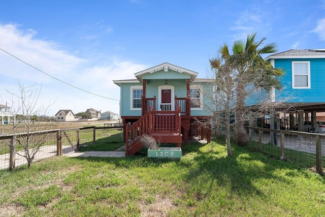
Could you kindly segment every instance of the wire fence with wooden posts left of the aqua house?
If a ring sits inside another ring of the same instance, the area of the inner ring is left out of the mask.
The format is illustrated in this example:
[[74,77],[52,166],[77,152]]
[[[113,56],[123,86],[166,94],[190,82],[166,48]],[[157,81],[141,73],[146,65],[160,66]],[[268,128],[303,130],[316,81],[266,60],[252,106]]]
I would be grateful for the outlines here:
[[[37,141],[47,134],[47,141],[40,147],[35,160],[46,159],[55,155],[67,155],[78,151],[80,147],[89,144],[95,145],[96,141],[105,143],[118,143],[123,140],[122,128],[116,127],[84,127],[66,130],[49,130],[32,133],[0,135],[0,170],[14,169],[26,164],[23,147],[16,142],[17,137],[30,136]],[[32,141],[31,140],[31,141]],[[31,145],[32,146],[32,145]]]

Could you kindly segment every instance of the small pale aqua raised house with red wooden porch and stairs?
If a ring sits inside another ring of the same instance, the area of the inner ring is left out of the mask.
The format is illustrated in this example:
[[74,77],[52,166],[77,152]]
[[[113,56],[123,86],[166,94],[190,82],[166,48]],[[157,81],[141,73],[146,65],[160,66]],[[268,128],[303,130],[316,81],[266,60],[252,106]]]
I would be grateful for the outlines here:
[[126,155],[136,153],[143,134],[161,143],[187,144],[188,139],[210,141],[211,127],[200,120],[211,117],[210,79],[169,63],[135,73],[135,79],[114,80],[120,87],[120,116],[126,140]]

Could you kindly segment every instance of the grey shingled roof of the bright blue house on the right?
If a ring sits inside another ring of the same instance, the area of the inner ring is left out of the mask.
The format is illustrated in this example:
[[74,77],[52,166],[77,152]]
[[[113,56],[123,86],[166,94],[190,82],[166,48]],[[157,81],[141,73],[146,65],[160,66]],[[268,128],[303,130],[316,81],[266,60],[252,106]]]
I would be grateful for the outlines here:
[[265,60],[289,58],[325,58],[325,49],[291,49],[270,55]]

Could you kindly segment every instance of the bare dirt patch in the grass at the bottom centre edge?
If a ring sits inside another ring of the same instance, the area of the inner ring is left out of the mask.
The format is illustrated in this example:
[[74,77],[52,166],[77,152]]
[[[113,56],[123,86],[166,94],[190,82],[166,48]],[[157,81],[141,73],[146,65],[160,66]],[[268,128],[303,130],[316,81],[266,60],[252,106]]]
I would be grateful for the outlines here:
[[143,202],[140,204],[141,216],[143,217],[157,217],[157,216],[167,216],[169,210],[176,209],[171,199],[157,195],[155,201],[152,204],[147,204]]

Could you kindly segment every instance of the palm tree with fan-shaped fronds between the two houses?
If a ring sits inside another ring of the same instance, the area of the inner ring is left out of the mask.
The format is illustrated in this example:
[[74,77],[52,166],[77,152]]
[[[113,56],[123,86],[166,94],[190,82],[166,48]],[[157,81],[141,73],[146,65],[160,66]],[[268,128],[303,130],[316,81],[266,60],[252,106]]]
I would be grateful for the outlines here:
[[244,128],[246,115],[245,99],[248,85],[263,88],[270,91],[272,88],[281,89],[279,78],[284,75],[283,70],[273,68],[265,61],[262,54],[275,53],[276,44],[266,44],[259,48],[266,40],[255,41],[256,33],[248,34],[246,42],[237,40],[233,44],[232,53],[226,44],[221,46],[219,53],[223,58],[224,64],[232,69],[232,74],[237,82],[237,104],[236,104],[236,133],[237,144],[240,146],[248,143],[247,132]]

